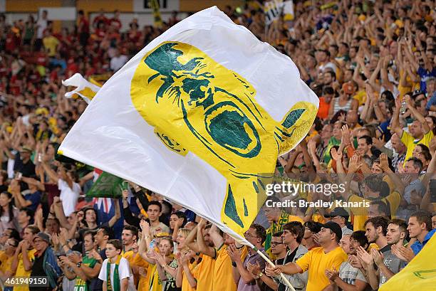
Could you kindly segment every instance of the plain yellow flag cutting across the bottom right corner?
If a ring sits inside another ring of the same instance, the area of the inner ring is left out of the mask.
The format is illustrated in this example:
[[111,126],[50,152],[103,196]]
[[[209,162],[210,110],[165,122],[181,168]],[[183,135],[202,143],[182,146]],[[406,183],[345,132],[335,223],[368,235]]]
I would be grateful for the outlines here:
[[436,290],[436,236],[433,236],[425,247],[400,273],[391,277],[380,287],[380,291],[403,290],[433,291]]

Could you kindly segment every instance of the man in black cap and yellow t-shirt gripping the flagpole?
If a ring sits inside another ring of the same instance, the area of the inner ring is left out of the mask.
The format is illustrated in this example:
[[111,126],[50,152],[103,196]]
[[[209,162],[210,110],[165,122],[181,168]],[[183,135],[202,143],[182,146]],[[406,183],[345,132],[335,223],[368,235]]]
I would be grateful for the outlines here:
[[341,226],[333,221],[323,224],[318,233],[319,248],[309,250],[296,263],[278,265],[274,273],[296,274],[308,271],[308,282],[306,291],[321,291],[329,285],[326,270],[339,270],[343,262],[347,260],[347,255],[339,246],[342,238]]

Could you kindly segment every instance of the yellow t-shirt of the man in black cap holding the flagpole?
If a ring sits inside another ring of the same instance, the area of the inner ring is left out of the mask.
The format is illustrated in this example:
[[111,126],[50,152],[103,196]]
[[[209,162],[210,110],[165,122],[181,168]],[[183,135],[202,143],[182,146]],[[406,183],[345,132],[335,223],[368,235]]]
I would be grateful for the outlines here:
[[321,291],[329,283],[326,277],[326,270],[335,268],[339,270],[341,264],[347,260],[347,254],[341,247],[335,248],[331,252],[324,253],[321,247],[313,248],[303,255],[296,264],[303,271],[308,270],[308,281],[306,291]]

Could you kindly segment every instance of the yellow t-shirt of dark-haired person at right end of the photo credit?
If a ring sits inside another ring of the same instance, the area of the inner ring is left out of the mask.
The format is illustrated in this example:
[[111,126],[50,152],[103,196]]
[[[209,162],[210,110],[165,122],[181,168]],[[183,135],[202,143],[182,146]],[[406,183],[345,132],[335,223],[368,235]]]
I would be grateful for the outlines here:
[[[393,191],[387,197],[383,199],[365,199],[363,197],[357,196],[355,194],[348,198],[348,202],[363,203],[363,201],[381,200],[390,206],[390,213],[395,214],[397,212],[398,206],[400,206],[401,195],[398,191]],[[368,219],[368,208],[366,207],[350,207],[351,212],[354,214],[353,221],[353,231],[365,231],[363,226],[365,221]]]

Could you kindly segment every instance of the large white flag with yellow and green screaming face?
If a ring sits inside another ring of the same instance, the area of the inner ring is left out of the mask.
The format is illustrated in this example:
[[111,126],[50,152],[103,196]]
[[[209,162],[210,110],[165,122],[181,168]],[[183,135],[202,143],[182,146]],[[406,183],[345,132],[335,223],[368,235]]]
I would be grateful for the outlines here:
[[242,236],[318,97],[292,60],[216,7],[155,38],[103,85],[60,147]]

